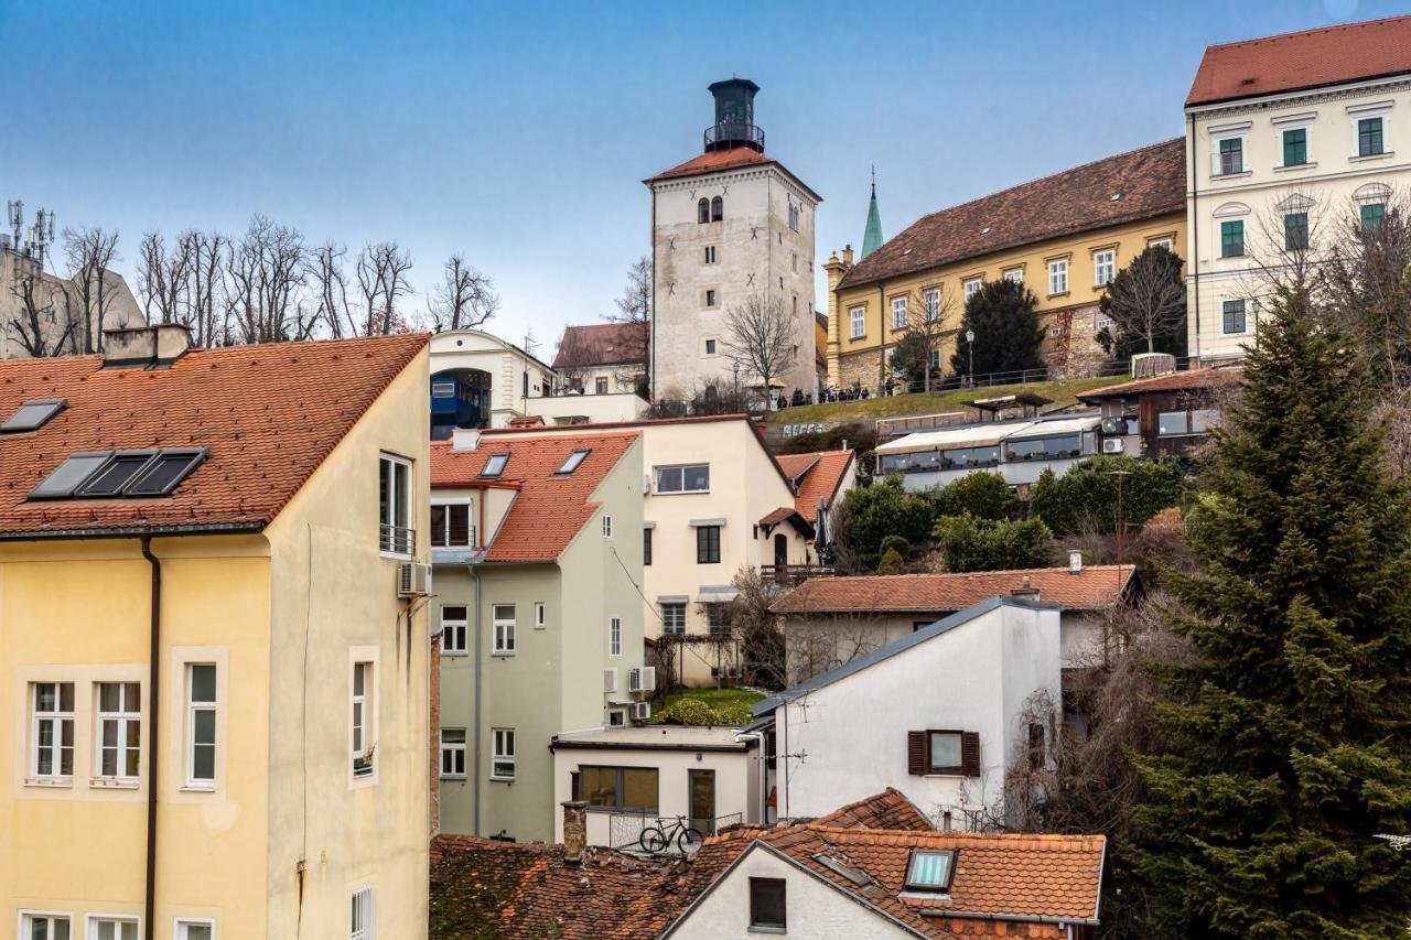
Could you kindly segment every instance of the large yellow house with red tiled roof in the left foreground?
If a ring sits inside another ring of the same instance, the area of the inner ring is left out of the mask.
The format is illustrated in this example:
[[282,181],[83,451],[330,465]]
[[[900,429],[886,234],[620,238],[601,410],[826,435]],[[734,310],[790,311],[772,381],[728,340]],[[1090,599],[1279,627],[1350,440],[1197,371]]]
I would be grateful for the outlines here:
[[[24,940],[426,936],[430,639],[396,590],[429,524],[425,339],[247,349],[51,366],[66,406],[0,435],[49,454],[0,456],[0,923]],[[0,370],[28,395],[24,367]],[[93,426],[205,454],[162,497],[27,500]]]

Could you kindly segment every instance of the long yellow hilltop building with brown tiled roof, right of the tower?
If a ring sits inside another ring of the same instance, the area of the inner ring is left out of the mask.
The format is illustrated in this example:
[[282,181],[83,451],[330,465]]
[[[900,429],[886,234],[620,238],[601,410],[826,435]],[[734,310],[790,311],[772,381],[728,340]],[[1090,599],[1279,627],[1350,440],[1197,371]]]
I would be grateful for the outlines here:
[[876,394],[890,351],[928,311],[933,367],[950,374],[965,301],[1000,278],[1033,292],[1053,374],[1096,366],[1108,282],[1150,246],[1185,246],[1182,154],[1180,140],[1119,154],[924,216],[856,263],[851,247],[834,254],[827,382]]

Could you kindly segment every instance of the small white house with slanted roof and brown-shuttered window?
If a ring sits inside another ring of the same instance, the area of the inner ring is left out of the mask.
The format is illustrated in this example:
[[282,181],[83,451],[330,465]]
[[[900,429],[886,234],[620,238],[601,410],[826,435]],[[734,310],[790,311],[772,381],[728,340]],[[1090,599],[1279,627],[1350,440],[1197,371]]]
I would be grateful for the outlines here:
[[1060,610],[991,597],[761,701],[777,817],[890,786],[940,828],[1002,820],[1009,768],[1060,727]]

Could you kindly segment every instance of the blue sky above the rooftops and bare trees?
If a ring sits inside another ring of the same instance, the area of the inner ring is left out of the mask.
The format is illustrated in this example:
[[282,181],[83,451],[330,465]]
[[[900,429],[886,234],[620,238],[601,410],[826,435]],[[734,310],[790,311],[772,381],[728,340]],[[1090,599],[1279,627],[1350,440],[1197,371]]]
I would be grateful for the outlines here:
[[[693,157],[706,86],[761,86],[769,154],[824,196],[818,258],[882,223],[1181,133],[1206,44],[1404,13],[1240,3],[143,3],[0,0],[0,192],[62,224],[353,251],[398,239],[415,306],[453,251],[492,329],[611,309],[649,250],[642,179]],[[820,272],[818,305],[825,298]]]

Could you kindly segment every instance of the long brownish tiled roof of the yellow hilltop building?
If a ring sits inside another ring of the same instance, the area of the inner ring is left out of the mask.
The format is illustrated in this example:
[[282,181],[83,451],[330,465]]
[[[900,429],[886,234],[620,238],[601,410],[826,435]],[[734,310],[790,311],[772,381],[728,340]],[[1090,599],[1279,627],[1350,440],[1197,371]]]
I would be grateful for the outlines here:
[[1185,138],[1178,137],[923,216],[854,265],[838,287],[1184,212]]

